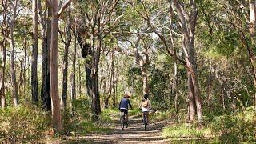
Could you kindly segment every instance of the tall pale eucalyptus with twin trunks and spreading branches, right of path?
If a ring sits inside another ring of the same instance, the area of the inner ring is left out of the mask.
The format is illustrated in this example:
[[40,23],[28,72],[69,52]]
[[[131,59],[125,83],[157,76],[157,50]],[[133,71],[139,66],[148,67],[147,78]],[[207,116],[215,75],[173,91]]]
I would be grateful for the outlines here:
[[[188,87],[189,87],[189,115],[190,120],[194,120],[194,110],[197,111],[198,122],[202,121],[202,101],[198,83],[196,61],[194,56],[194,34],[198,17],[198,2],[196,1],[140,1],[138,3],[128,2],[130,6],[144,19],[150,29],[158,35],[166,47],[170,56],[186,67]],[[142,10],[138,10],[138,8]],[[160,10],[165,8],[164,10]],[[158,10],[159,9],[159,10]],[[160,19],[155,14],[166,16]],[[158,21],[160,19],[160,21]],[[162,25],[163,22],[165,25]],[[178,32],[177,32],[178,31]],[[174,37],[173,34],[176,34]],[[176,54],[174,38],[181,37],[182,42],[178,46],[182,47],[184,58]]]

